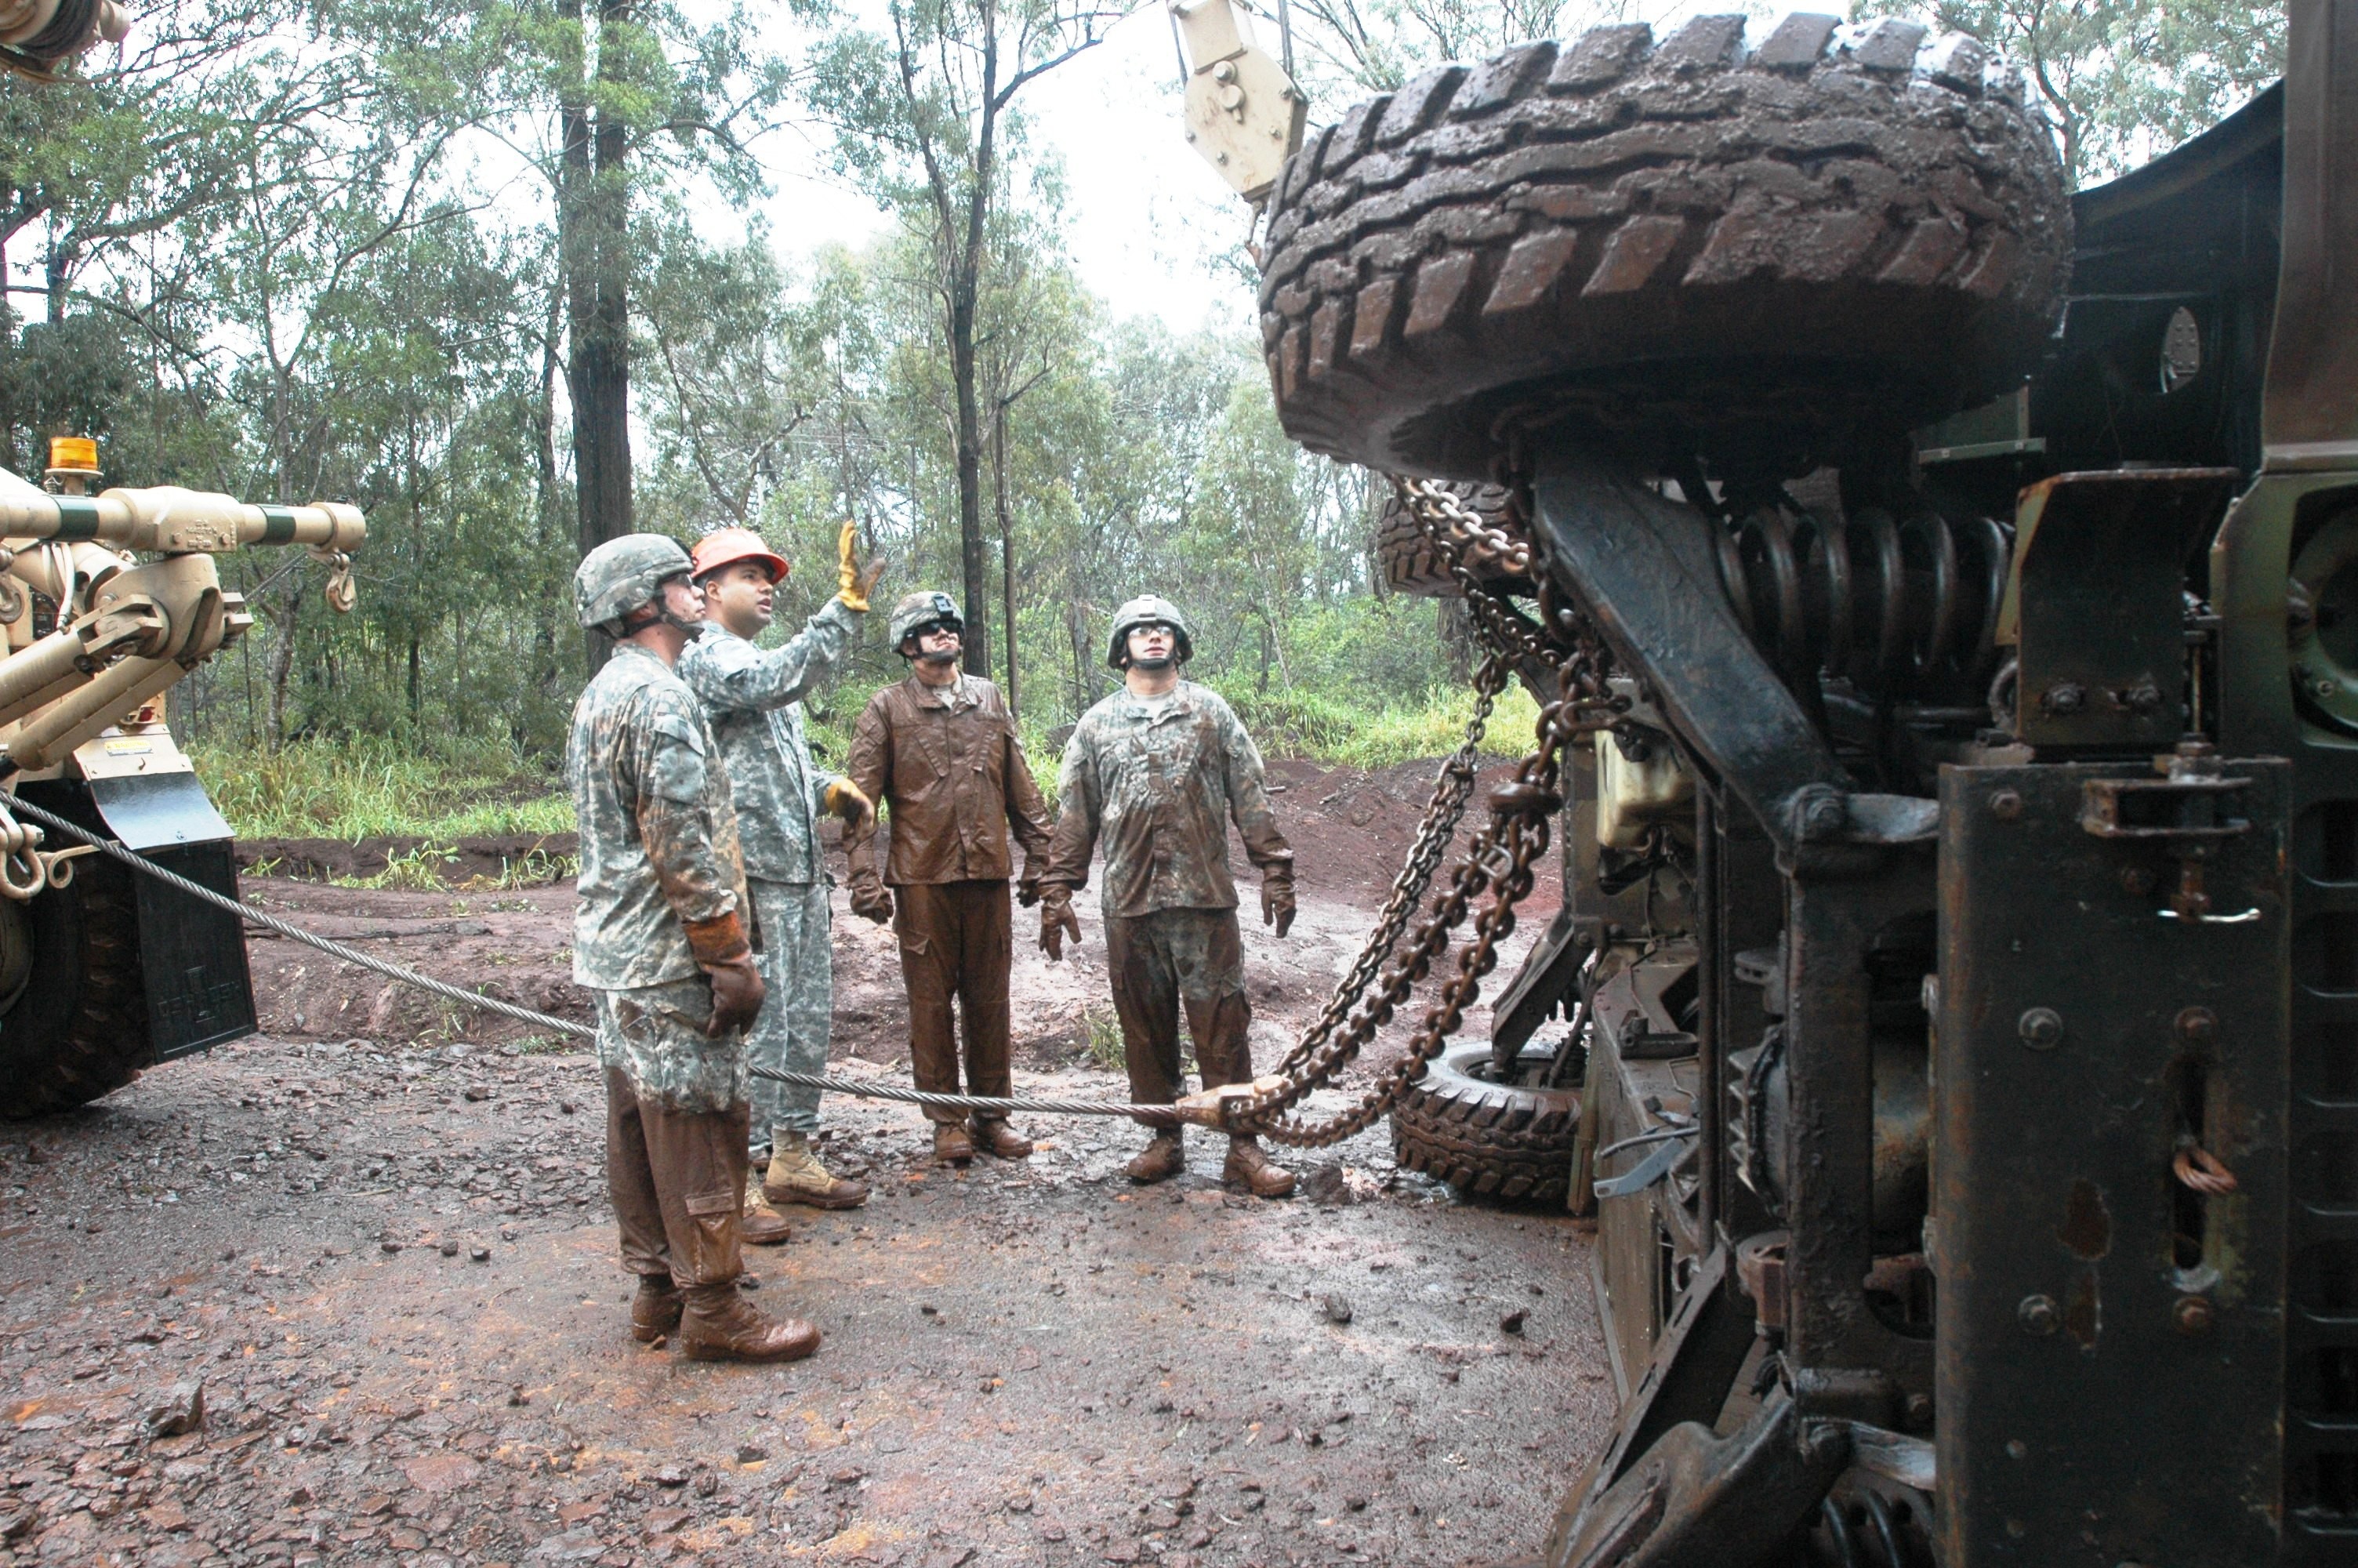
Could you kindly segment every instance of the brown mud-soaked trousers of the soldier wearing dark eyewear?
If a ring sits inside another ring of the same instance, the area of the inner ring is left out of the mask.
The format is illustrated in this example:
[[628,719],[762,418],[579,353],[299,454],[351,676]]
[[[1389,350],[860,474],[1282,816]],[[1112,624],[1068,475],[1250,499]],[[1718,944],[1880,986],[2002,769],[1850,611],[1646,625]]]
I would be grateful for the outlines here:
[[[908,1056],[917,1087],[927,1094],[1009,1096],[1014,915],[1007,882],[905,882],[894,889],[891,929],[901,938]],[[957,1028],[967,1035],[964,1089],[957,1087]],[[936,1106],[927,1106],[924,1115],[931,1122],[967,1120]]]

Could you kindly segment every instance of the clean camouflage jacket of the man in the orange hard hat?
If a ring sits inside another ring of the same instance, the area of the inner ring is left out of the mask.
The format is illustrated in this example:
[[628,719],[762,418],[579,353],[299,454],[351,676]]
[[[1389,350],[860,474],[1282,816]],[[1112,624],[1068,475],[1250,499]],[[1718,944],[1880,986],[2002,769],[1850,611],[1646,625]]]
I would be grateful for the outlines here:
[[729,764],[747,877],[825,879],[818,813],[835,776],[811,766],[802,696],[835,667],[856,625],[856,611],[830,599],[783,648],[764,651],[719,622],[705,622],[705,634],[679,655],[679,679],[705,705]]

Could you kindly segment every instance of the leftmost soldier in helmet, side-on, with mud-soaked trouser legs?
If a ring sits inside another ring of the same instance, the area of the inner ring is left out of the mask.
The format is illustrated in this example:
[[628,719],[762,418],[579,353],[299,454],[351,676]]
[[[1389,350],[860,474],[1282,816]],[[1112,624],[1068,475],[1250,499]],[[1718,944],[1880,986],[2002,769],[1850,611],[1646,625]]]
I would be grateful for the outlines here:
[[573,981],[597,997],[632,1332],[677,1330],[698,1361],[809,1356],[816,1327],[762,1316],[736,1285],[762,974],[729,776],[672,670],[705,615],[689,552],[653,533],[606,540],[573,573],[573,608],[615,639],[573,705],[566,780],[582,856]]

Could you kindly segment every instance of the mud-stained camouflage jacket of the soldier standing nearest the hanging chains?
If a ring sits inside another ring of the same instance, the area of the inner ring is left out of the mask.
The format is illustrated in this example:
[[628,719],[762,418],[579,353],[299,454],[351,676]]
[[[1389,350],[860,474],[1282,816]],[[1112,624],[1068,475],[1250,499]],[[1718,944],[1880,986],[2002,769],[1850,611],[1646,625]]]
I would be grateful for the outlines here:
[[1115,691],[1082,714],[1056,780],[1061,816],[1042,882],[1085,887],[1106,846],[1106,915],[1233,910],[1229,823],[1262,875],[1290,877],[1295,851],[1269,813],[1262,752],[1236,710],[1196,681],[1170,696]]

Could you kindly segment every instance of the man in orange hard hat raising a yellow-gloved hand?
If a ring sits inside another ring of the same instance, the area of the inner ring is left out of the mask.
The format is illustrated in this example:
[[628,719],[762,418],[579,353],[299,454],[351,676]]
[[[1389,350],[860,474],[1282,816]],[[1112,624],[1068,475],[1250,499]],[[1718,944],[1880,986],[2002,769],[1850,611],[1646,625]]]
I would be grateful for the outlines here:
[[[745,884],[759,931],[759,964],[769,995],[745,1045],[757,1068],[825,1073],[835,1019],[835,979],[828,946],[828,872],[821,863],[818,813],[847,823],[872,818],[868,797],[849,780],[811,764],[802,738],[802,696],[835,667],[884,561],[861,568],[856,533],[844,523],[837,542],[839,587],[780,648],[752,644],[773,615],[785,559],[750,528],[717,528],[696,542],[693,571],[705,589],[705,634],[679,660],[679,679],[705,705],[736,795]],[[832,1174],[816,1153],[818,1089],[752,1080],[755,1158],[766,1158],[762,1195],[849,1210],[868,1200],[861,1181]]]

